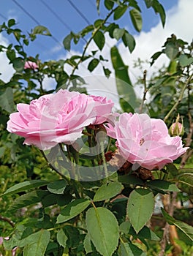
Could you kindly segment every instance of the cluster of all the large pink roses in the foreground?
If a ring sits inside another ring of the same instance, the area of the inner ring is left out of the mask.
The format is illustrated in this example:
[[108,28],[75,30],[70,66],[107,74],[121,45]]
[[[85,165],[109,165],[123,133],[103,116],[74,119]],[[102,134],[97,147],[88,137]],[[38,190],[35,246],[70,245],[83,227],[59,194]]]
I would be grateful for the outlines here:
[[[58,143],[72,144],[84,127],[106,123],[107,135],[116,139],[122,157],[136,167],[161,169],[183,154],[179,136],[170,137],[164,121],[147,114],[114,114],[106,97],[59,90],[28,104],[18,104],[7,130],[25,138],[24,143],[45,150]],[[110,121],[111,120],[111,121]],[[113,120],[113,121],[112,121]]]

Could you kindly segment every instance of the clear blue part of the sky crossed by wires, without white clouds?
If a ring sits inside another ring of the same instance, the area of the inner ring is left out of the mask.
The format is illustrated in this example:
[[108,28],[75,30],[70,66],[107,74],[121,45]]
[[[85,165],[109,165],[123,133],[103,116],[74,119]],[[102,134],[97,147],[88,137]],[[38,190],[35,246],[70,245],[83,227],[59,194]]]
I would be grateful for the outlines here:
[[[166,11],[178,4],[178,0],[160,2]],[[159,23],[159,15],[155,15],[151,9],[147,10],[143,0],[140,0],[139,4],[143,15],[143,31],[148,32]],[[100,4],[100,14],[96,11],[95,0],[4,0],[1,2],[0,23],[6,21],[5,19],[15,18],[18,27],[24,32],[31,31],[37,23],[48,27],[53,37],[39,36],[27,49],[31,56],[39,53],[43,61],[58,59],[65,54],[66,51],[61,45],[70,30],[78,32],[97,18],[105,18],[106,14],[103,0]],[[118,20],[118,23],[122,27],[129,28],[130,33],[136,34],[129,19],[129,12],[124,15],[124,18]],[[7,39],[12,42],[11,37]],[[83,41],[72,45],[72,49],[81,52]]]

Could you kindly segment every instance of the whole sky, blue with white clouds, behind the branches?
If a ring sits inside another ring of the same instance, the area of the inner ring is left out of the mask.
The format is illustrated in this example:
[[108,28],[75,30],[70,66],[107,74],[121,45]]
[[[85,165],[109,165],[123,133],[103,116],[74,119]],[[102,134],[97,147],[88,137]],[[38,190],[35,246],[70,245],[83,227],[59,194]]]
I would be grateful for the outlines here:
[[[101,2],[103,3],[103,0]],[[132,54],[129,53],[128,48],[125,48],[122,42],[116,42],[116,39],[111,39],[107,34],[105,34],[107,44],[102,49],[102,53],[96,53],[96,55],[102,54],[105,59],[109,60],[106,63],[106,67],[113,71],[110,61],[110,47],[116,44],[124,63],[129,67],[128,72],[133,84],[136,83],[137,78],[143,76],[144,69],[147,70],[148,79],[163,64],[167,65],[169,63],[167,57],[161,56],[153,67],[150,67],[149,64],[151,56],[156,51],[162,50],[162,45],[164,45],[167,37],[175,34],[176,37],[190,43],[192,42],[193,28],[193,0],[160,0],[166,10],[164,29],[159,15],[155,15],[153,10],[147,10],[143,0],[138,0],[138,2],[143,15],[143,30],[140,33],[136,33],[132,28],[129,13],[126,13],[124,18],[118,20],[119,26],[126,28],[135,37],[136,47]],[[45,6],[45,3],[49,8]],[[20,4],[20,7],[18,4]],[[50,10],[55,12],[58,17],[56,18]],[[8,18],[15,18],[18,27],[26,33],[33,29],[34,26],[37,26],[37,23],[48,27],[55,40],[52,37],[39,36],[31,43],[30,47],[26,48],[26,51],[28,56],[36,56],[39,53],[41,61],[49,61],[51,59],[67,59],[74,54],[81,55],[83,53],[83,41],[78,45],[72,45],[72,51],[69,53],[61,46],[64,37],[69,34],[70,30],[76,33],[85,28],[88,23],[93,23],[98,18],[104,18],[106,13],[107,10],[101,5],[101,12],[98,15],[95,0],[4,0],[1,1],[0,23],[3,23]],[[0,34],[0,45],[5,42],[7,44],[12,42],[12,38],[7,37],[6,34]],[[92,50],[98,50],[94,42],[89,45],[87,54],[90,54]],[[134,62],[139,58],[144,61],[142,69],[134,68]],[[9,81],[14,70],[3,53],[0,53],[0,63],[0,73],[2,74],[0,78],[4,81]],[[88,62],[84,61],[76,70],[75,75],[85,78],[86,82],[90,84],[90,88],[97,89],[97,94],[99,94],[99,91],[103,91],[102,94],[104,95],[104,91],[106,91],[108,94],[109,92],[111,93],[110,97],[107,96],[108,98],[116,96],[114,73],[112,72],[110,75],[112,79],[107,80],[101,65],[98,65],[92,73],[88,71],[87,66]],[[69,74],[72,71],[72,67],[68,65],[64,68]],[[91,78],[91,81],[88,81],[89,78]],[[101,79],[102,83],[99,82]],[[54,80],[49,78],[45,79],[44,85],[46,89],[53,89],[55,88],[55,83]],[[93,91],[91,93],[94,94]],[[136,86],[136,93],[138,97],[142,97],[143,88],[141,88],[141,85]]]

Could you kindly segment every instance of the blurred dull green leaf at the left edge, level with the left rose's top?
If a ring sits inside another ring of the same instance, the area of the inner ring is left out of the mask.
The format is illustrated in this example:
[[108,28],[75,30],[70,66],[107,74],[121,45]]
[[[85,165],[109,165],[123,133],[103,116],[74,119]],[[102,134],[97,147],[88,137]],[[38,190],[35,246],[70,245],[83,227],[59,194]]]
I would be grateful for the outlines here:
[[14,111],[12,88],[7,87],[4,93],[0,95],[0,106],[3,110],[6,110],[8,113],[12,113]]

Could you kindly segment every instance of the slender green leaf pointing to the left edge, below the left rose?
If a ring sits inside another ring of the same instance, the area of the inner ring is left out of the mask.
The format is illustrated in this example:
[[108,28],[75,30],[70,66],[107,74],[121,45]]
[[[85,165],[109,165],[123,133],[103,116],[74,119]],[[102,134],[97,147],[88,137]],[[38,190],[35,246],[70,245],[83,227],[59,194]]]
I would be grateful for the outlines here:
[[13,187],[10,187],[9,189],[4,192],[3,195],[12,195],[18,192],[23,192],[28,189],[33,189],[35,187],[42,187],[49,183],[49,181],[42,181],[42,180],[34,180],[34,181],[23,181],[19,184],[15,184]]

